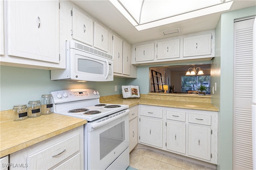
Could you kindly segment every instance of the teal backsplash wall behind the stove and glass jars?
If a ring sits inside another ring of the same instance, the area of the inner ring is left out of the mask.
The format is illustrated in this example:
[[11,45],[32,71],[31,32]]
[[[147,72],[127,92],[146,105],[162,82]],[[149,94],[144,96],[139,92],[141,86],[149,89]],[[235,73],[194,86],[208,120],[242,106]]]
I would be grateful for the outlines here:
[[[115,85],[117,92],[114,91]],[[125,78],[114,77],[111,82],[51,81],[50,70],[0,66],[0,110],[12,109],[12,106],[27,104],[30,100],[40,100],[42,94],[56,90],[89,88],[98,90],[100,96],[122,94],[122,85],[126,85]]]

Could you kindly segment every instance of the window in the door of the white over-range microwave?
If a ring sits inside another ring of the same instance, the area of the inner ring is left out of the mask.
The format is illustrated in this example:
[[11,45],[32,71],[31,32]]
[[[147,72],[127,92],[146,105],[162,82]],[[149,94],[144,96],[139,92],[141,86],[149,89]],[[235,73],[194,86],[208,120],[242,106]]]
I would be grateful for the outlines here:
[[102,63],[88,59],[78,59],[78,71],[93,74],[103,74],[103,69],[104,65]]

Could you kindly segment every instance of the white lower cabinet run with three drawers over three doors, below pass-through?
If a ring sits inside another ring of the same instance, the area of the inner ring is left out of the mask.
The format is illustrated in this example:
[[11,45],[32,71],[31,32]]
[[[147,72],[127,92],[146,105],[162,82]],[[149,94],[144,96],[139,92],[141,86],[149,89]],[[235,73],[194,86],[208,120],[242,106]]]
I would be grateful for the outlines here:
[[217,164],[218,112],[139,105],[139,143]]

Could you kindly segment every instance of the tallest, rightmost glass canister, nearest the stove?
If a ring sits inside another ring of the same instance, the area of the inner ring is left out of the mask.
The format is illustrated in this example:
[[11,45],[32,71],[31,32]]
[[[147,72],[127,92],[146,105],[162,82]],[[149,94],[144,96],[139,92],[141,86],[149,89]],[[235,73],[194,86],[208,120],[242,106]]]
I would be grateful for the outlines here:
[[43,94],[41,99],[42,115],[49,115],[53,111],[53,102],[51,94]]

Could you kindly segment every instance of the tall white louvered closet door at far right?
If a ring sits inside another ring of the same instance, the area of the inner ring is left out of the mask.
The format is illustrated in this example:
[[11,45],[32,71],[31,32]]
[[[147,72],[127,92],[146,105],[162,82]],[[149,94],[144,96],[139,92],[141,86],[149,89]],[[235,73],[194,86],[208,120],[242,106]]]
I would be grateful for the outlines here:
[[234,22],[233,169],[252,169],[252,27]]

